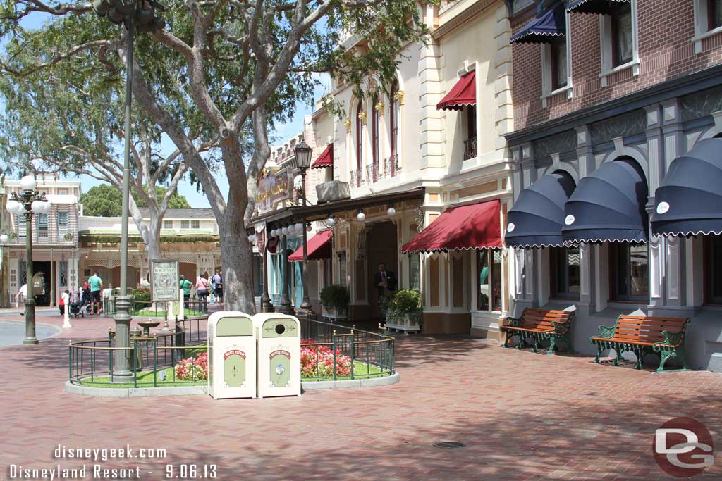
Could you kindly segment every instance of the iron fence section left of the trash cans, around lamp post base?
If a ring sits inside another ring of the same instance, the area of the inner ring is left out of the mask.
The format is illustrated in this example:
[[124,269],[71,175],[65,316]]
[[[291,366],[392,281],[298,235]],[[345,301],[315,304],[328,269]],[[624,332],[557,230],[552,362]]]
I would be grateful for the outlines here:
[[[190,320],[190,319],[189,319]],[[192,343],[188,332],[178,325],[168,332],[153,335],[131,334],[128,348],[115,345],[116,333],[108,331],[108,339],[70,341],[69,380],[73,384],[103,387],[158,387],[183,384],[205,384],[201,372],[207,369],[206,343]],[[131,379],[118,383],[115,379],[115,354],[123,351],[131,368]],[[178,369],[178,366],[181,369]],[[207,372],[207,371],[206,371]],[[182,376],[182,377],[181,377]],[[190,379],[186,379],[186,378]]]

